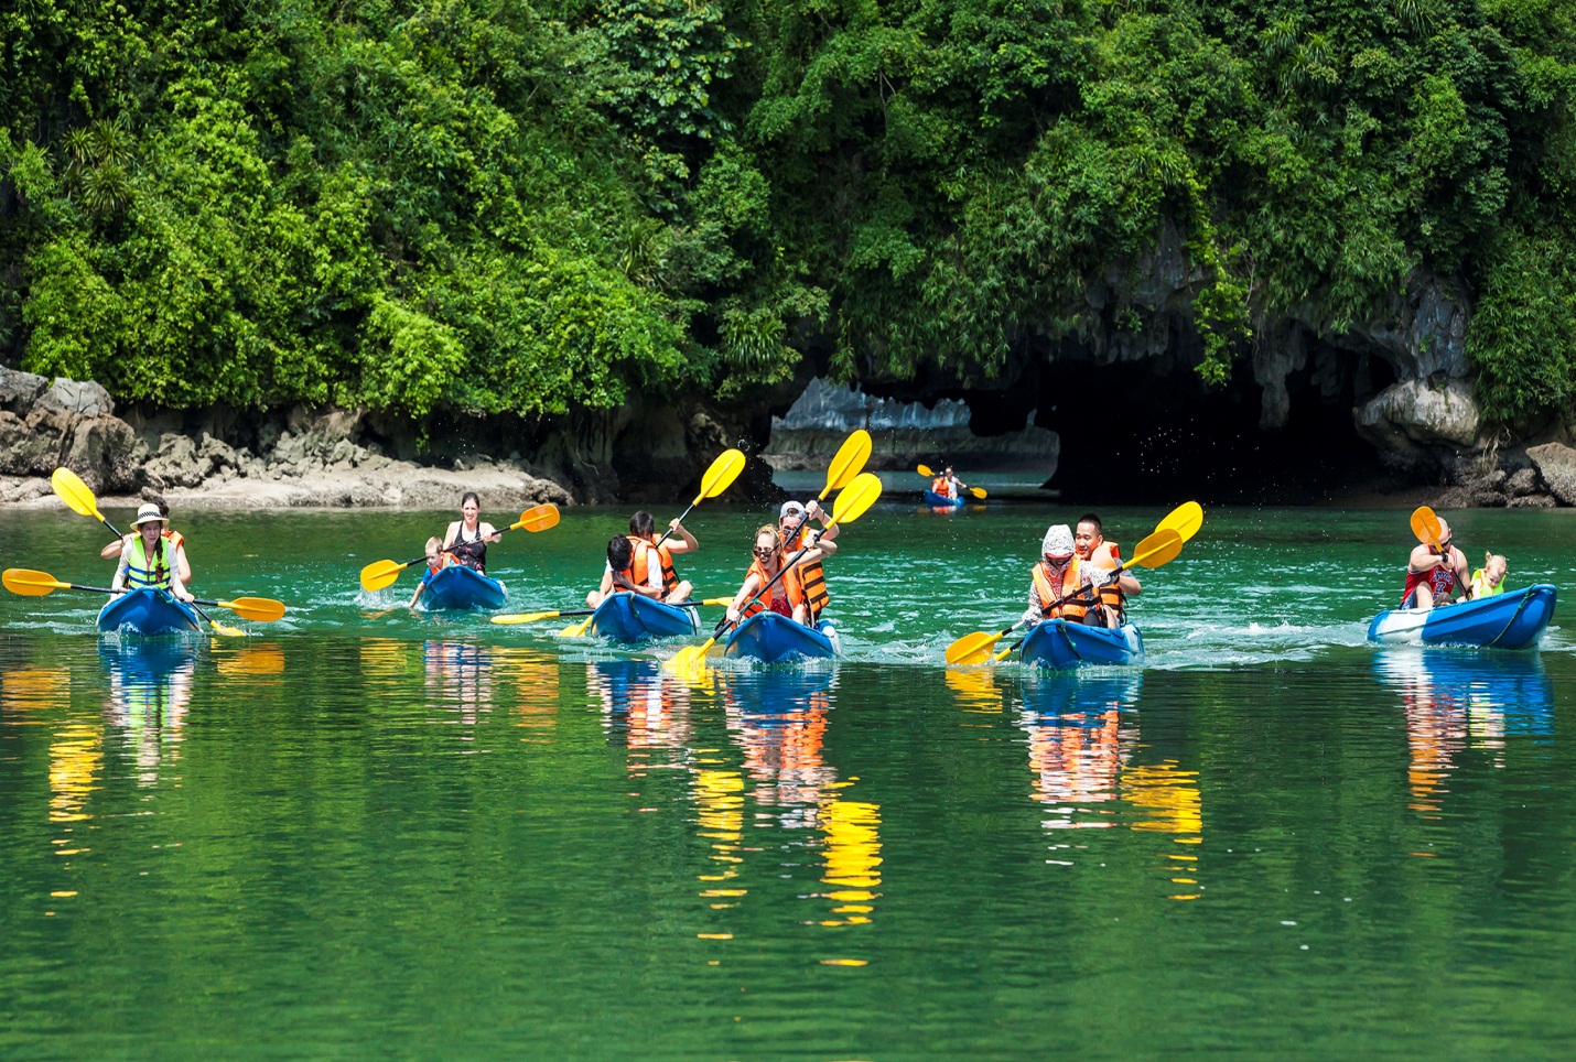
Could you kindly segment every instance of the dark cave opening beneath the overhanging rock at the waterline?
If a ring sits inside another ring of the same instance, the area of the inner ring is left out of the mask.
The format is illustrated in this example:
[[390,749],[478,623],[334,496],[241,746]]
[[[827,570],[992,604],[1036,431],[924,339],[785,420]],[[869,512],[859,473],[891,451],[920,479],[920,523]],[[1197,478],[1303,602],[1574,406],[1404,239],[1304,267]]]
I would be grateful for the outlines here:
[[1035,424],[1061,436],[1046,487],[1075,503],[1327,504],[1407,487],[1352,419],[1354,405],[1395,381],[1388,362],[1340,355],[1333,386],[1308,362],[1286,378],[1280,429],[1259,427],[1262,389],[1250,364],[1206,388],[1191,369],[1152,361],[1042,362],[1009,391],[971,394],[971,427],[1018,430],[1037,410]]

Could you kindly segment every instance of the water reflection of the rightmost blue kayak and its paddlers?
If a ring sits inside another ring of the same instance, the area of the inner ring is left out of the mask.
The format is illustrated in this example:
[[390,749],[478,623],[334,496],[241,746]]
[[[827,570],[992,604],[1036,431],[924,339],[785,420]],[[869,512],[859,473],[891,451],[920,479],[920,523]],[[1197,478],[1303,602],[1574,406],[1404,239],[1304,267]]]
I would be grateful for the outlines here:
[[1461,750],[1489,750],[1504,767],[1507,734],[1554,734],[1554,684],[1537,652],[1387,649],[1374,674],[1401,693],[1411,808],[1423,818],[1439,818]]

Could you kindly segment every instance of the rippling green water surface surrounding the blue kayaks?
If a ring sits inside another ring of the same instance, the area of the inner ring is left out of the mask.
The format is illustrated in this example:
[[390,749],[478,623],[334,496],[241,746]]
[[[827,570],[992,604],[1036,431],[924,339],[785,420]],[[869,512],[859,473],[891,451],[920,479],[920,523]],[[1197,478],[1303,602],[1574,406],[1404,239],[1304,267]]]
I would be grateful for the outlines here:
[[[512,607],[623,515],[493,547]],[[246,640],[6,596],[0,1054],[1568,1054],[1571,638],[1373,649],[1406,514],[1210,511],[1143,671],[946,670],[1072,515],[883,506],[827,564],[845,660],[686,681],[361,594],[441,515],[177,520],[202,596],[292,605]],[[701,594],[761,517],[697,512]],[[1571,585],[1571,514],[1455,525]],[[90,520],[0,534],[109,580]]]

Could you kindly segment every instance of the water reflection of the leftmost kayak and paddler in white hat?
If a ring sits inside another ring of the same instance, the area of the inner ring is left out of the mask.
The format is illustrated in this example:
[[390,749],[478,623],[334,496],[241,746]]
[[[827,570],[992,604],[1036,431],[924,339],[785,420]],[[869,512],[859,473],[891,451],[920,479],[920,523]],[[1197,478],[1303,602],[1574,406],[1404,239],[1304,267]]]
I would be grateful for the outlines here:
[[194,638],[99,638],[99,660],[109,673],[106,714],[126,733],[137,785],[158,783],[165,756],[180,755],[199,644]]

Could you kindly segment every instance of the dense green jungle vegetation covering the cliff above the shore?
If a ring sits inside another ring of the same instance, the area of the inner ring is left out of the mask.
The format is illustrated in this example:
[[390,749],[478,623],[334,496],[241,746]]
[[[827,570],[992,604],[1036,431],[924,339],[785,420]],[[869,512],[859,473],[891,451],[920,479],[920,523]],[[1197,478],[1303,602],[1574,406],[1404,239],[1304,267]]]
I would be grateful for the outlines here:
[[0,351],[169,407],[528,418],[1136,328],[1223,380],[1415,266],[1576,395],[1570,0],[9,0]]

